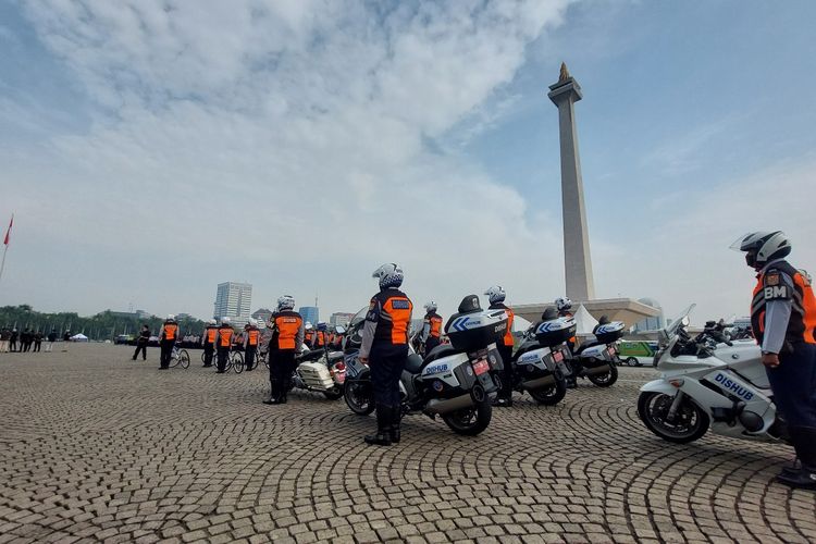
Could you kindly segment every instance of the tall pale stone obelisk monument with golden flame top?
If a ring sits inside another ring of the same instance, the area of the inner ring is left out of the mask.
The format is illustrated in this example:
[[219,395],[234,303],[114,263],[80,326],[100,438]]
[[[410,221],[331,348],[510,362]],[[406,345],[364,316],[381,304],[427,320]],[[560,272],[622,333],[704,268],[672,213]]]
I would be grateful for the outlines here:
[[549,86],[549,99],[558,107],[558,132],[561,143],[561,206],[564,209],[564,269],[567,296],[585,302],[595,298],[592,277],[586,209],[583,202],[581,158],[578,154],[574,103],[583,98],[581,86],[561,63],[558,83]]

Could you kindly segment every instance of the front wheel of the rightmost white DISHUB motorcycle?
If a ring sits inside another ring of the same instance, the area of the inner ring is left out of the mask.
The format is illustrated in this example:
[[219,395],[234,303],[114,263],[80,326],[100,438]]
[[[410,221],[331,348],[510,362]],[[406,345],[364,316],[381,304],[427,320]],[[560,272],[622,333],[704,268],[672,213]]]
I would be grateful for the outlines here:
[[703,436],[710,420],[689,397],[680,401],[675,420],[666,420],[673,400],[675,397],[664,393],[641,393],[638,415],[650,431],[665,441],[688,444]]

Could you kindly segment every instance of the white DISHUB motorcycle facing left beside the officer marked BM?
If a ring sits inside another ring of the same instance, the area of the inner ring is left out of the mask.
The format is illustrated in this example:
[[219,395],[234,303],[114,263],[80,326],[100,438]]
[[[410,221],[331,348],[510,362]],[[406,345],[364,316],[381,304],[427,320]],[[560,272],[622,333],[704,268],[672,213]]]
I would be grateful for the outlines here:
[[716,434],[755,441],[787,441],[770,384],[754,341],[730,342],[706,329],[687,332],[692,305],[660,331],[654,366],[660,379],[641,387],[638,413],[663,440],[687,444],[712,429]]

